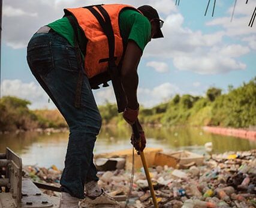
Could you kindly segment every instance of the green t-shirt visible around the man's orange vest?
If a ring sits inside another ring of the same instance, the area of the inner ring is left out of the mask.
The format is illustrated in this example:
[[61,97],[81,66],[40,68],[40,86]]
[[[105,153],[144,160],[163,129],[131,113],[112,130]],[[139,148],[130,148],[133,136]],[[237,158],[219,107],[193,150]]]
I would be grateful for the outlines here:
[[[50,23],[48,26],[59,35],[65,37],[71,46],[74,46],[74,31],[67,17],[56,20],[55,22]],[[121,11],[119,15],[119,27],[125,45],[127,44],[128,40],[133,40],[143,51],[146,44],[150,41],[150,22],[146,17],[138,13],[138,11],[130,9]],[[83,44],[83,42],[86,41],[82,40],[83,31],[79,29],[78,32],[79,43]]]

